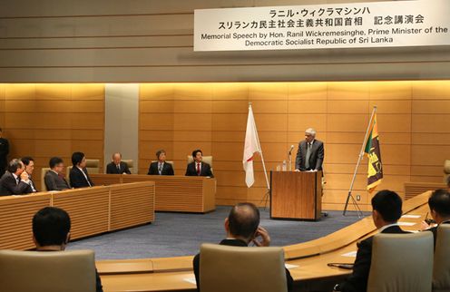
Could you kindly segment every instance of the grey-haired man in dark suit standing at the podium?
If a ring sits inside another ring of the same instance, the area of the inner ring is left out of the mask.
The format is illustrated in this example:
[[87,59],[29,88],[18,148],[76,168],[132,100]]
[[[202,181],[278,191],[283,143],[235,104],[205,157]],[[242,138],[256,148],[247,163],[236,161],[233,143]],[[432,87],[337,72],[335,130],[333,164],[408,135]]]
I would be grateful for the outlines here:
[[305,140],[298,143],[296,171],[322,170],[323,160],[323,142],[316,140],[316,130],[309,128],[305,131]]

